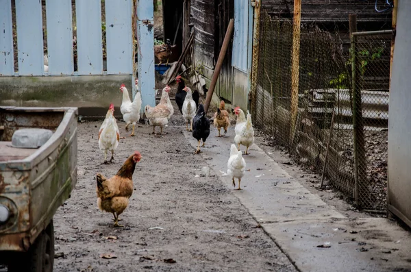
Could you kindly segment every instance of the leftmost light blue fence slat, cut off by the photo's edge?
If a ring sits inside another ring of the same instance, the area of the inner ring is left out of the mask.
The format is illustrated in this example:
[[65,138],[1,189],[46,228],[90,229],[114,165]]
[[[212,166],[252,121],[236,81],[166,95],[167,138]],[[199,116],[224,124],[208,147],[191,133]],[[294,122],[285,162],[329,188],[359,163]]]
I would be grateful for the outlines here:
[[0,75],[14,75],[12,1],[0,0]]

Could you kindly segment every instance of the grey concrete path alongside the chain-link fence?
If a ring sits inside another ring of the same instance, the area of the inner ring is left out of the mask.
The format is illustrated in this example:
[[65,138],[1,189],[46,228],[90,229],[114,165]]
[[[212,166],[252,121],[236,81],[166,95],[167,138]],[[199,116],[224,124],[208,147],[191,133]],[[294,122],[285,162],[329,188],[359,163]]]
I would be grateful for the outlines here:
[[[197,147],[190,132],[184,135]],[[216,135],[212,127],[201,156],[233,188],[224,173],[234,126],[226,137]],[[388,219],[350,221],[296,182],[260,147],[253,145],[249,151],[250,155],[243,156],[247,163],[243,190],[233,188],[232,193],[299,271],[411,271],[409,232]]]

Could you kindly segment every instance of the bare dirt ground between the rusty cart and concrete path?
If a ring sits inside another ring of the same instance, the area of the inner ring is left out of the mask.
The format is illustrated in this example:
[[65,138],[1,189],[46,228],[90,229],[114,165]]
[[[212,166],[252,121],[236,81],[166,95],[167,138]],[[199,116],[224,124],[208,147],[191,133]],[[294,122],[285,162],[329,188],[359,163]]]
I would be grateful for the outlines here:
[[[206,162],[186,142],[177,108],[171,121],[164,136],[136,127],[110,165],[100,165],[101,122],[79,123],[77,186],[54,217],[54,271],[295,271],[218,175],[203,175]],[[97,208],[95,175],[114,175],[134,150],[142,154],[134,194],[125,227],[115,228]]]

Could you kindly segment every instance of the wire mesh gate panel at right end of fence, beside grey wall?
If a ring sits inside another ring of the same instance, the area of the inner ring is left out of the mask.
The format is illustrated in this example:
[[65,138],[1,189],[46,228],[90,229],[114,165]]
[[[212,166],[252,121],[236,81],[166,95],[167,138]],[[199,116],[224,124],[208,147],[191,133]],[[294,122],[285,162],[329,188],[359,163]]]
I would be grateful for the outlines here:
[[351,39],[355,177],[358,205],[386,208],[391,30]]

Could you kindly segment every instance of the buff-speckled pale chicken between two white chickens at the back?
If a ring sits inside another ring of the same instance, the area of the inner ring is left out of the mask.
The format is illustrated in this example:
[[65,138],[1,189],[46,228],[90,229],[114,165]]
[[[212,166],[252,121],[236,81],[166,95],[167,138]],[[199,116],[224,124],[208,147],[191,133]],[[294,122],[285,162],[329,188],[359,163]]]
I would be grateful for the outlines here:
[[149,119],[150,125],[153,126],[153,134],[155,134],[155,127],[160,127],[160,134],[162,134],[163,127],[169,123],[168,116],[170,115],[170,110],[167,106],[166,97],[168,96],[168,93],[166,90],[167,86],[164,87],[161,94],[160,103],[158,103],[157,106],[154,108],[149,105],[145,106],[147,119]]

